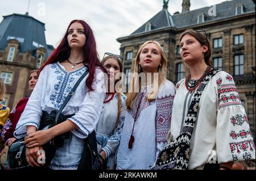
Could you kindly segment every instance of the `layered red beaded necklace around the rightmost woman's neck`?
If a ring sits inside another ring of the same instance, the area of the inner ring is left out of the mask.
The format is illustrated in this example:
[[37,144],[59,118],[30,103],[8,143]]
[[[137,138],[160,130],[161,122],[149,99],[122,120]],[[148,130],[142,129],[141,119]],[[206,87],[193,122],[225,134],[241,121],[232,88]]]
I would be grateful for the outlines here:
[[203,75],[197,80],[192,80],[191,79],[191,74],[188,74],[188,77],[185,79],[185,86],[188,91],[193,92],[196,90],[196,88],[201,84],[203,79],[208,75],[209,71],[212,70],[212,68],[208,65],[207,69],[205,69]]

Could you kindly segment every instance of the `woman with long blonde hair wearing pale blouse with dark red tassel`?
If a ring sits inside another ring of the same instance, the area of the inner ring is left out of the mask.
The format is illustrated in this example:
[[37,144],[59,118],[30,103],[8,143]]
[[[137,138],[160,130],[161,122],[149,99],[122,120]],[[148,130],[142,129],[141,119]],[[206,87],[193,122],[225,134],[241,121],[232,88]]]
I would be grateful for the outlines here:
[[[117,169],[150,169],[167,143],[175,90],[174,84],[166,79],[166,66],[166,57],[157,41],[147,41],[139,48],[126,99]],[[138,74],[146,74],[146,83]],[[135,91],[137,87],[139,90]]]

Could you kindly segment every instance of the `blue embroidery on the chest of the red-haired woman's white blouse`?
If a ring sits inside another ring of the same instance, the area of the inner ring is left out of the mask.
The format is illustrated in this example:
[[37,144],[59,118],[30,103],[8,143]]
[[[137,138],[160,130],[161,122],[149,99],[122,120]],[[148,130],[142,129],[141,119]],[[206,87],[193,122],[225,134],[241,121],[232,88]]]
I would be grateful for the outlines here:
[[72,90],[73,82],[78,79],[82,73],[86,70],[86,67],[79,68],[75,71],[67,72],[58,63],[51,65],[52,69],[55,69],[57,84],[54,85],[55,92],[50,96],[50,100],[54,108],[60,109],[65,98],[68,96],[68,92]]

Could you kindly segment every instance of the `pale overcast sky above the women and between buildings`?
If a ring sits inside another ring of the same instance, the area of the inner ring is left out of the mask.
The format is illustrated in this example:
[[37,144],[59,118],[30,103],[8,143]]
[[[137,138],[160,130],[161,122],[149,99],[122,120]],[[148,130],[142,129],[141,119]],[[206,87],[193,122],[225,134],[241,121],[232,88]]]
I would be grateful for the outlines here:
[[[25,14],[29,0],[0,0],[2,16]],[[223,0],[191,0],[190,10]],[[169,1],[170,14],[181,12],[182,0]],[[104,52],[119,54],[118,37],[128,36],[162,10],[163,0],[30,0],[29,15],[45,23],[46,43],[56,46],[73,19],[85,20],[94,32],[100,58]]]

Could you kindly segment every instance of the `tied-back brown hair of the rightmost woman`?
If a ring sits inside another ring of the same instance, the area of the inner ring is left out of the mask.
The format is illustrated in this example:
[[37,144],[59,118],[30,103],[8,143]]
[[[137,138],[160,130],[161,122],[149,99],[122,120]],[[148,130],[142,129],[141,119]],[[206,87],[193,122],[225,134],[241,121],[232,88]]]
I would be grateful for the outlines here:
[[204,53],[204,61],[205,61],[205,64],[212,66],[212,60],[210,59],[210,56],[212,55],[212,50],[210,49],[210,42],[207,39],[207,35],[205,33],[201,33],[201,31],[195,31],[192,29],[188,29],[188,30],[184,31],[183,33],[181,33],[180,41],[183,38],[183,36],[185,36],[187,34],[195,37],[195,39],[197,41],[199,41],[201,46],[207,45],[208,50],[207,50],[207,52]]

